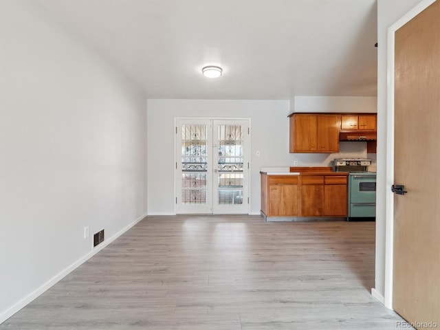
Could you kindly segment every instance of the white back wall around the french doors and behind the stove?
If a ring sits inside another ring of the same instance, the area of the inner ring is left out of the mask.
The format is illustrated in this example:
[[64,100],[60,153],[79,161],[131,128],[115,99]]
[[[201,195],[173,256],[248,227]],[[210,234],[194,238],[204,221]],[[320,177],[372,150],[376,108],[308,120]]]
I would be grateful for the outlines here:
[[252,214],[260,213],[262,166],[292,166],[294,160],[299,166],[331,166],[336,157],[366,157],[366,142],[342,142],[339,154],[290,154],[290,111],[289,100],[148,100],[148,214],[174,212],[175,117],[251,118]]

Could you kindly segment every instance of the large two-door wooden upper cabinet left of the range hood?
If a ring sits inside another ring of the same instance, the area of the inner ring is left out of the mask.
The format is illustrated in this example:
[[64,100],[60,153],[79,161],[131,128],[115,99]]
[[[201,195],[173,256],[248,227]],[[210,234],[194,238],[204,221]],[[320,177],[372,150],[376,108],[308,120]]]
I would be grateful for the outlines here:
[[294,113],[290,116],[290,153],[338,153],[340,115]]

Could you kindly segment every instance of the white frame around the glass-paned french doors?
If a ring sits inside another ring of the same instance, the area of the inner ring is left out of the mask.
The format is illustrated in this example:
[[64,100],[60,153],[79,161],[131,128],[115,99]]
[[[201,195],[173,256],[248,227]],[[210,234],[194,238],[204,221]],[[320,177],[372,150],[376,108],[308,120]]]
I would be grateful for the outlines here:
[[[252,126],[251,126],[251,118],[245,118],[245,117],[175,117],[174,118],[174,129],[173,131],[175,131],[175,128],[177,127],[177,121],[178,120],[247,120],[248,121],[248,127],[250,129],[250,133],[252,133]],[[252,136],[252,135],[251,135]],[[251,214],[250,210],[250,206],[251,206],[251,201],[252,201],[252,187],[251,187],[251,177],[252,177],[252,173],[251,173],[251,168],[252,168],[252,164],[251,164],[251,155],[252,155],[252,138],[249,137],[248,138],[248,150],[246,151],[246,153],[248,153],[248,159],[249,159],[249,171],[248,171],[248,179],[247,179],[247,183],[248,183],[248,196],[249,196],[249,203],[248,203],[248,214]],[[176,153],[176,137],[174,137],[174,141],[173,141],[173,154],[174,154],[174,164],[176,164],[176,162],[178,162],[177,159],[177,153]],[[177,186],[176,186],[176,179],[175,179],[175,175],[174,175],[174,179],[173,179],[173,183],[174,183],[174,201],[177,198]],[[177,204],[174,203],[174,214],[177,214]]]

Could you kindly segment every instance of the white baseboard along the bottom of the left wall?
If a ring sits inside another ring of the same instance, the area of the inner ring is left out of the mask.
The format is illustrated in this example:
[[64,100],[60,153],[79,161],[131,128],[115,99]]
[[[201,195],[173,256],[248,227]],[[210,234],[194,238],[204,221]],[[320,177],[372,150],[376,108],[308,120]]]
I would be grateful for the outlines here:
[[11,316],[17,313],[20,309],[28,305],[32,302],[32,300],[38,298],[47,291],[47,289],[50,289],[53,285],[61,281],[65,276],[67,276],[69,273],[71,273],[73,270],[75,270],[77,267],[85,263],[87,260],[89,260],[92,256],[100,252],[103,248],[105,248],[107,245],[109,245],[111,242],[113,242],[115,239],[117,239],[119,236],[124,234],[127,230],[129,230],[133,225],[141,221],[147,216],[147,214],[142,215],[141,217],[137,218],[135,221],[127,225],[125,228],[111,236],[109,239],[105,239],[100,245],[98,245],[96,248],[91,250],[89,253],[87,253],[83,258],[79,259],[69,267],[67,267],[65,270],[59,272],[54,277],[52,277],[49,281],[41,285],[38,289],[36,289],[34,292],[29,294],[28,296],[25,296],[25,298],[21,299],[18,303],[12,305],[12,307],[6,309],[0,314],[0,324],[5,322],[5,320],[8,320]]

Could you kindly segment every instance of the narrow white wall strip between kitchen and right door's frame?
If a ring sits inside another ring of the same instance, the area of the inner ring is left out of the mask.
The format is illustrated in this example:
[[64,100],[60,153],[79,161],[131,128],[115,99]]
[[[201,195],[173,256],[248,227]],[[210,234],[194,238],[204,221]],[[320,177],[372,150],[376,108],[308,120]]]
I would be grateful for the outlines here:
[[[377,1],[377,140],[386,141],[387,131],[387,30],[404,16],[419,0]],[[377,203],[376,203],[376,269],[375,292],[384,297],[385,291],[385,225],[386,208],[386,143],[377,144]],[[390,178],[392,179],[392,178]],[[388,306],[391,307],[391,306]]]

